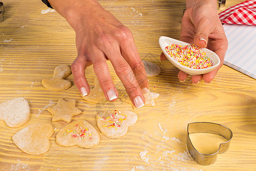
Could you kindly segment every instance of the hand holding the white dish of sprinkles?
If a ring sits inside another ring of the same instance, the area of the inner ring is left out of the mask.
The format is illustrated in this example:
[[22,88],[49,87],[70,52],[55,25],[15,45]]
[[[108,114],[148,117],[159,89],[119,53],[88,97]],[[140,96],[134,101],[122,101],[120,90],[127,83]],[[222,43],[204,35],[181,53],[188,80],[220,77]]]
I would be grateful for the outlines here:
[[[184,42],[196,44],[201,48],[209,48],[221,60],[220,65],[215,70],[204,75],[193,75],[191,78],[193,84],[199,83],[202,79],[207,84],[212,82],[224,63],[228,45],[225,31],[218,17],[216,0],[187,0],[186,7],[181,22],[180,39]],[[161,60],[166,59],[163,53],[160,58]],[[180,82],[185,82],[187,77],[188,74],[185,72],[178,72]]]

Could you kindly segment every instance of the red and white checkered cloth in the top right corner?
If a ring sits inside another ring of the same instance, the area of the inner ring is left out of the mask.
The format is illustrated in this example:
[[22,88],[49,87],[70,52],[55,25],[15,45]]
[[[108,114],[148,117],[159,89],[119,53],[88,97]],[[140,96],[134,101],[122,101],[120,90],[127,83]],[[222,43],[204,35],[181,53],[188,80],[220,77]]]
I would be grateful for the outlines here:
[[256,25],[256,0],[247,0],[231,6],[219,14],[222,23]]

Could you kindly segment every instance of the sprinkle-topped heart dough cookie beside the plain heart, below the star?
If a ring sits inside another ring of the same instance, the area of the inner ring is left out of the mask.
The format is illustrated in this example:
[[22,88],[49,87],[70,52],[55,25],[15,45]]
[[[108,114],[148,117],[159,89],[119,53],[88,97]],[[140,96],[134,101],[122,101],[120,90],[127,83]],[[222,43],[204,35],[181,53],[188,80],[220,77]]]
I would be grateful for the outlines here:
[[56,143],[60,146],[93,148],[100,143],[100,136],[90,123],[79,119],[60,129],[56,135]]

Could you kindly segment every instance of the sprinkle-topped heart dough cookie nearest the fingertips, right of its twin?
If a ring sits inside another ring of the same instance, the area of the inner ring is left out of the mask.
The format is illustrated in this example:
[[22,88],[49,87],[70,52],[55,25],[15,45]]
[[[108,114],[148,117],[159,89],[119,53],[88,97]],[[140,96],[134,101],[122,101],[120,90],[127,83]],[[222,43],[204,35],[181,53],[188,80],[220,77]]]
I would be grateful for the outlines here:
[[131,111],[108,111],[96,115],[100,131],[111,139],[123,137],[127,133],[128,127],[136,123],[137,118],[137,115]]

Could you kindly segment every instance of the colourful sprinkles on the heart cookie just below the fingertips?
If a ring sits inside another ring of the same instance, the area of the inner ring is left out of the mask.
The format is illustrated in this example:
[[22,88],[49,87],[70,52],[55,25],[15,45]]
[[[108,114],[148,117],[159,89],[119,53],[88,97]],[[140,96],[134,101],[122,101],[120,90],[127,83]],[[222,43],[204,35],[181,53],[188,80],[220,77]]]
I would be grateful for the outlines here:
[[[121,111],[119,111],[118,113],[121,113]],[[115,110],[115,115],[113,113],[110,113],[108,117],[102,117],[102,119],[107,120],[109,123],[109,124],[103,125],[103,127],[117,129],[121,127],[121,124],[127,119],[127,115],[123,115],[123,114],[117,115],[117,112]]]

